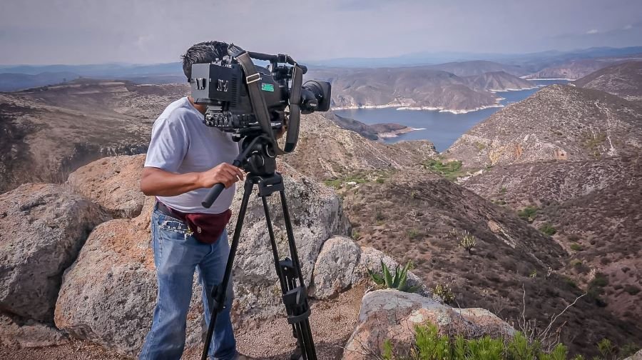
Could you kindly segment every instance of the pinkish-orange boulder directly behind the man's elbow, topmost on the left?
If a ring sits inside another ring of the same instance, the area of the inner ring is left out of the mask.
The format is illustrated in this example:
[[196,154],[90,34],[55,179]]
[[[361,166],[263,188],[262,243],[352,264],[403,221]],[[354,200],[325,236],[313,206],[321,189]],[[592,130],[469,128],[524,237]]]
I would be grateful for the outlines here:
[[145,201],[140,190],[145,158],[146,154],[99,159],[69,174],[67,184],[114,217],[133,218],[141,214]]

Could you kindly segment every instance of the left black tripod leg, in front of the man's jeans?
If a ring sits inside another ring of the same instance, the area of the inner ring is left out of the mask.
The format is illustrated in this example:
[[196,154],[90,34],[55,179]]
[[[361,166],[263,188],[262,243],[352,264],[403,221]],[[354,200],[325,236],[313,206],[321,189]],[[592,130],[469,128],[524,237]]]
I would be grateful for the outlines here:
[[203,354],[200,356],[201,360],[208,360],[208,351],[210,350],[210,344],[212,343],[212,336],[214,334],[214,325],[216,324],[216,318],[218,316],[218,313],[220,313],[220,311],[223,311],[223,309],[225,308],[225,295],[228,289],[228,284],[230,283],[230,278],[232,276],[232,266],[234,264],[234,257],[236,256],[236,249],[238,248],[240,231],[243,227],[245,212],[248,210],[248,201],[250,200],[253,186],[254,184],[252,183],[252,181],[250,181],[250,179],[245,179],[245,185],[243,186],[243,200],[241,201],[240,209],[238,211],[238,219],[236,220],[234,236],[232,238],[232,244],[230,245],[230,255],[228,256],[228,263],[225,265],[225,274],[223,274],[223,280],[220,282],[220,284],[215,286],[212,290],[213,306],[210,309],[210,311],[212,311],[212,314],[210,316],[208,334],[207,336],[205,336]]

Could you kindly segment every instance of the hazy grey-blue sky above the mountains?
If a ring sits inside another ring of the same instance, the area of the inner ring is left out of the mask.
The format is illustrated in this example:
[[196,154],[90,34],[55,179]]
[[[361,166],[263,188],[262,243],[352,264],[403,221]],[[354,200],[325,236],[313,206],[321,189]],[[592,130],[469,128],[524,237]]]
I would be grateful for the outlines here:
[[295,59],[642,45],[642,0],[2,0],[0,64],[156,64],[218,40]]

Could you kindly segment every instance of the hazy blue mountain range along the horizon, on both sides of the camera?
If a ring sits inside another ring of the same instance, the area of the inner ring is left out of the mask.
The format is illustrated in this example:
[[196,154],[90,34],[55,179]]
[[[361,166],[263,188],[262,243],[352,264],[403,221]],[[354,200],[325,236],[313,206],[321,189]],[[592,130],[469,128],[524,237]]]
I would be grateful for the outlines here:
[[[613,64],[606,62],[598,66],[596,62],[585,59],[623,58],[642,54],[642,46],[627,48],[590,48],[575,51],[541,51],[531,54],[479,54],[469,52],[422,52],[403,56],[377,59],[350,58],[325,61],[301,61],[310,69],[327,68],[376,68],[398,66],[426,66],[426,69],[447,71],[457,76],[475,76],[487,72],[504,71],[515,76],[537,74],[539,77],[572,77],[579,79],[592,71]],[[566,64],[570,65],[566,65]],[[591,65],[587,65],[591,64]],[[584,70],[567,71],[559,69],[585,66]],[[547,69],[551,68],[551,69]],[[538,74],[539,71],[544,71]],[[31,75],[17,76],[18,74]],[[137,84],[183,83],[183,69],[177,62],[162,64],[88,64],[88,65],[1,65],[0,91],[14,91],[33,86],[57,84],[63,80],[78,77],[96,79],[121,79]]]

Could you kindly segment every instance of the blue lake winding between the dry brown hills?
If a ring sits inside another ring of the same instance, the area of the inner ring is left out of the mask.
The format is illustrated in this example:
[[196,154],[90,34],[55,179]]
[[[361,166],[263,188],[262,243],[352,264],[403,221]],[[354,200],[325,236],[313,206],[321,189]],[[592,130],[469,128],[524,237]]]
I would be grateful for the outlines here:
[[[566,80],[534,80],[537,85],[566,84]],[[501,100],[502,105],[511,104],[526,99],[535,94],[541,88],[503,91],[496,93],[497,96],[505,98]],[[384,109],[350,109],[335,110],[335,114],[361,121],[365,124],[396,123],[409,126],[414,129],[425,129],[411,131],[395,138],[385,139],[388,143],[404,140],[429,140],[434,143],[437,151],[444,151],[454,143],[459,136],[472,128],[501,108],[489,108],[472,111],[466,114],[452,114],[434,110],[397,110],[396,108]]]

